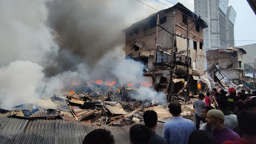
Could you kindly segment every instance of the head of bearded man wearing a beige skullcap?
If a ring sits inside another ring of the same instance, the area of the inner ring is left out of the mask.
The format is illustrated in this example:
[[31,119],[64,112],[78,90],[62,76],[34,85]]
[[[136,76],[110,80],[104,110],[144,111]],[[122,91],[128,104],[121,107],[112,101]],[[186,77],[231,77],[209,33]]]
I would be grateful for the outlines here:
[[206,116],[206,131],[212,133],[216,127],[224,125],[225,116],[222,111],[210,110]]

